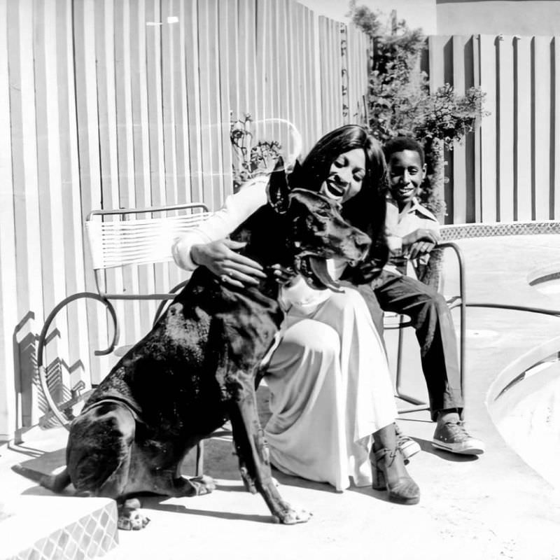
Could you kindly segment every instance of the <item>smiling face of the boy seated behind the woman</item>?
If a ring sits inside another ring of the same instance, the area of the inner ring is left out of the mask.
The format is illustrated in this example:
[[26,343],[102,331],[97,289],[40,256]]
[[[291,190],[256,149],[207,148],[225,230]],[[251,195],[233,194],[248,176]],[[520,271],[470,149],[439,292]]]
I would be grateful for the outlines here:
[[414,150],[393,152],[387,164],[391,195],[402,211],[418,195],[426,177],[426,164],[422,165],[420,154]]

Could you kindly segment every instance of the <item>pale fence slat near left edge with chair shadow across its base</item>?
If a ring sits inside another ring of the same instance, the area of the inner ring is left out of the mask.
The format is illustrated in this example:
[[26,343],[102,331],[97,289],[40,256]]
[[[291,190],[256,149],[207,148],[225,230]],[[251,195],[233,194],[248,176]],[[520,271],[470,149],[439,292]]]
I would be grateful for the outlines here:
[[[16,274],[18,278],[18,324],[13,325],[20,362],[23,423],[38,419],[35,338],[43,318],[41,277],[41,220],[38,198],[37,130],[31,0],[8,3],[8,68],[12,126],[12,171]],[[33,406],[34,405],[34,406]]]

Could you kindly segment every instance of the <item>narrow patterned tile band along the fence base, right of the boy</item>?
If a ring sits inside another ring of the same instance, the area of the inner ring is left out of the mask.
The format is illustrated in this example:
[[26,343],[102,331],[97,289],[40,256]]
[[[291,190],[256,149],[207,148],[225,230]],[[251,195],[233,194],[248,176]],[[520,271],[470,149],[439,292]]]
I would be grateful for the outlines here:
[[442,241],[499,235],[542,235],[560,233],[560,221],[461,223],[441,226]]

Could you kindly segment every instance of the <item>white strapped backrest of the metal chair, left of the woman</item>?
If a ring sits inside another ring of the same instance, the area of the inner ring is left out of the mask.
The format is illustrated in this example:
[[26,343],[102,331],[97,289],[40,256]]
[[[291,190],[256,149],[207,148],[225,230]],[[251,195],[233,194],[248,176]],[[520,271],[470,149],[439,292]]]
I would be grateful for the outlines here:
[[209,216],[200,202],[90,212],[85,230],[99,293],[105,269],[171,261],[174,240]]

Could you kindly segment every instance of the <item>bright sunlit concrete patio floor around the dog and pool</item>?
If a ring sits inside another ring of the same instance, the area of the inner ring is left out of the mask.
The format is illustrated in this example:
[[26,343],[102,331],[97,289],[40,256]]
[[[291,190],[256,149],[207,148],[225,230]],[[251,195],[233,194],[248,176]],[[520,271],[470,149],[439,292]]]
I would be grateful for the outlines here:
[[[465,255],[468,301],[560,308],[560,297],[528,285],[535,271],[550,267],[560,271],[560,236],[488,237],[458,244]],[[452,261],[446,265],[449,294],[456,285]],[[465,419],[470,432],[486,442],[487,451],[479,457],[436,451],[430,444],[433,423],[428,412],[402,414],[400,426],[423,451],[409,464],[422,492],[419,505],[395,505],[384,492],[369,488],[337,493],[327,484],[274,471],[283,497],[313,512],[307,524],[274,524],[262,498],[244,491],[231,441],[219,437],[207,442],[205,452],[205,473],[215,477],[216,491],[198,498],[144,498],[151,523],[144,531],[119,531],[119,544],[105,558],[559,560],[558,487],[555,491],[512,451],[486,407],[489,394],[500,388],[496,386],[500,374],[507,367],[514,372],[516,360],[521,367],[524,354],[557,335],[560,318],[468,309]],[[388,334],[392,359],[391,337]],[[406,348],[412,346],[414,335],[409,332]],[[559,350],[560,344],[553,351]],[[407,393],[426,395],[416,351],[407,351],[405,377]],[[266,392],[265,387],[259,390],[263,414]],[[92,503],[93,498],[55,498],[10,470],[14,463],[43,472],[59,467],[64,464],[65,442],[64,428],[34,428],[24,435],[23,444],[0,447],[0,502],[9,510],[10,504],[29,500],[28,513],[24,508],[13,516],[19,516],[19,530],[27,531],[29,538],[31,525],[40,528],[45,519],[52,521],[74,509],[78,514],[84,502]],[[546,460],[560,449],[544,446],[540,451]],[[183,465],[183,472],[193,472],[193,458]],[[10,557],[5,543],[20,538],[15,523],[12,532],[2,533],[5,522],[0,521],[0,559]]]

